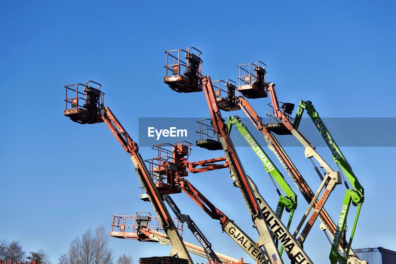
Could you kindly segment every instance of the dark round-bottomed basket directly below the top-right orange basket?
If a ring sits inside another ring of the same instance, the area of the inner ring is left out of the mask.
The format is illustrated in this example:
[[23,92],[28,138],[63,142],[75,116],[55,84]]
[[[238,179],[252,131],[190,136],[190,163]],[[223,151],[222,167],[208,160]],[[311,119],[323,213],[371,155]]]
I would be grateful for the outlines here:
[[[277,135],[291,135],[290,130],[288,130],[281,120],[276,118],[274,105],[272,103],[267,103],[269,105],[270,110],[267,116],[269,117],[269,123],[267,124],[267,129],[271,132],[274,132]],[[291,113],[294,110],[294,103],[283,103],[278,102],[279,110],[285,114],[287,120],[292,122],[294,119],[291,117]]]

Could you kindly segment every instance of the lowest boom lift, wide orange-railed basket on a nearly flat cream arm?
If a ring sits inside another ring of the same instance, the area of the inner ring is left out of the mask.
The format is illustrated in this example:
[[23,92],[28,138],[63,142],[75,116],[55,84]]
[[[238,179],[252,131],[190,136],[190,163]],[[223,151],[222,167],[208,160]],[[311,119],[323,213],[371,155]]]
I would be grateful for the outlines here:
[[[178,219],[173,218],[177,230],[183,234],[183,224]],[[168,236],[161,231],[164,228],[160,225],[158,217],[151,216],[147,212],[136,212],[133,216],[113,215],[110,236],[126,239],[136,239],[142,242],[159,242],[163,245],[172,245]],[[187,251],[197,256],[207,257],[208,252],[200,246],[183,241]],[[236,258],[214,252],[221,262],[238,263]]]

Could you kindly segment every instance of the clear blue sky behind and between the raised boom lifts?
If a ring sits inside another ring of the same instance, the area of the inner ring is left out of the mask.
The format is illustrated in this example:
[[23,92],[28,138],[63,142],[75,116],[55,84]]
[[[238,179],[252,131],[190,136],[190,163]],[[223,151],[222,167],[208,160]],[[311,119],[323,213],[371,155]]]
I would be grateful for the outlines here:
[[[164,51],[195,46],[203,52],[203,73],[212,79],[236,79],[236,65],[261,60],[280,101],[313,101],[322,117],[394,117],[395,8],[393,1],[2,1],[0,237],[20,239],[27,252],[41,247],[55,263],[87,228],[109,227],[112,214],[152,211],[139,201],[129,155],[107,127],[82,126],[63,117],[66,84],[100,82],[106,105],[137,140],[139,117],[208,115],[202,93],[177,94],[162,82]],[[251,101],[262,115],[267,102]],[[371,141],[376,131],[375,125],[362,124],[345,133],[363,133]],[[318,186],[303,149],[286,150],[311,186]],[[246,147],[237,151],[247,174],[275,205],[276,193],[267,176],[261,177],[260,161]],[[328,149],[318,151],[332,160]],[[366,189],[353,247],[395,250],[395,214],[389,206],[395,149],[349,147],[343,153]],[[148,147],[141,154],[144,159],[155,155]],[[191,158],[207,159],[208,153],[194,149]],[[189,180],[251,237],[257,236],[227,171]],[[337,187],[326,204],[333,218],[344,192]],[[183,194],[174,199],[215,251],[247,258],[217,221]],[[300,195],[292,229],[306,207]],[[195,243],[188,230],[183,234]],[[131,254],[135,261],[170,250],[116,238],[110,238],[110,245],[116,256]],[[315,263],[327,262],[330,247],[318,224],[304,248]]]

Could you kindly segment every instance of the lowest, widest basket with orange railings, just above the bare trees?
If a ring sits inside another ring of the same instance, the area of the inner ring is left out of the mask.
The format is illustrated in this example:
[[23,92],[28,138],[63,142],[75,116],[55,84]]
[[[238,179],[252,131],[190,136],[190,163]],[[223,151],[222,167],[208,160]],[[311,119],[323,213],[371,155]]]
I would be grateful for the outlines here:
[[[177,231],[183,234],[183,223],[177,218],[172,218]],[[146,232],[142,232],[144,229]],[[118,238],[138,239],[147,242],[158,242],[147,235],[147,231],[161,232],[164,228],[157,216],[149,212],[136,212],[135,215],[112,216],[110,236]]]

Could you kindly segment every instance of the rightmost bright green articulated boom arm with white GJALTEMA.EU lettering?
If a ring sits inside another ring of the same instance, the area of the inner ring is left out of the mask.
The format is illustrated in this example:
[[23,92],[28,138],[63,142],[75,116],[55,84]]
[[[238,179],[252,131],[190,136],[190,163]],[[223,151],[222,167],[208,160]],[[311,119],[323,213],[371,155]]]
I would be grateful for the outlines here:
[[[304,109],[307,110],[308,115],[310,116],[312,121],[315,123],[315,126],[318,129],[319,133],[322,135],[322,138],[324,139],[324,141],[327,143],[327,146],[329,147],[329,149],[331,151],[331,155],[333,155],[333,159],[341,172],[341,176],[343,176],[344,184],[346,187],[346,194],[345,194],[344,203],[343,203],[343,206],[341,209],[341,214],[340,214],[340,217],[338,220],[339,224],[337,225],[336,235],[333,239],[333,243],[331,246],[330,259],[332,262],[336,262],[337,260],[340,260],[340,259],[343,259],[343,262],[346,262],[347,258],[349,256],[350,246],[352,244],[352,239],[353,239],[353,236],[355,233],[356,224],[358,222],[360,209],[364,202],[364,188],[362,187],[362,185],[360,185],[358,178],[352,171],[352,167],[349,165],[348,161],[346,161],[343,153],[341,152],[341,149],[337,146],[337,143],[335,143],[334,138],[331,136],[331,134],[330,134],[329,130],[326,128],[324,122],[319,117],[319,113],[315,110],[311,101],[301,101],[300,102],[300,105],[297,109],[296,117],[293,122],[294,127],[295,128],[299,127],[301,117],[303,116]],[[345,173],[350,184],[352,184],[352,188],[349,188],[348,184],[346,183],[346,180],[344,178],[344,175],[342,174],[342,171]],[[349,212],[351,203],[353,206],[357,207],[357,211],[356,211],[356,216],[355,216],[354,224],[352,227],[352,231],[350,234],[348,246],[347,246],[346,250],[344,248],[343,256],[341,256],[341,254],[339,254],[339,252],[338,252],[338,247],[340,245],[339,238],[341,238],[341,233],[343,233],[343,238],[345,239],[346,218],[348,216],[348,212]]]

